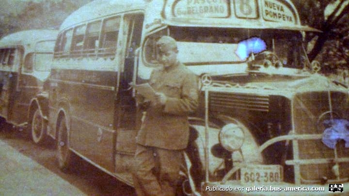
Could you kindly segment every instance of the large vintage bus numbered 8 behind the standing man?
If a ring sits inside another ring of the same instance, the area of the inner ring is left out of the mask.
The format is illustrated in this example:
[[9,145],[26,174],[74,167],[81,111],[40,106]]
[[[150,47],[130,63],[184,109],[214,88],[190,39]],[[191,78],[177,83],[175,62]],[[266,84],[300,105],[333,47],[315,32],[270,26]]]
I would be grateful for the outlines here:
[[[170,35],[181,62],[201,78],[184,194],[346,184],[348,89],[309,62],[308,31],[318,32],[301,25],[290,0],[95,0],[81,7],[60,28],[44,114],[59,167],[71,168],[79,155],[132,185],[128,166],[142,114],[130,83],[149,80],[159,65],[155,43]],[[304,193],[326,194],[292,195]]]

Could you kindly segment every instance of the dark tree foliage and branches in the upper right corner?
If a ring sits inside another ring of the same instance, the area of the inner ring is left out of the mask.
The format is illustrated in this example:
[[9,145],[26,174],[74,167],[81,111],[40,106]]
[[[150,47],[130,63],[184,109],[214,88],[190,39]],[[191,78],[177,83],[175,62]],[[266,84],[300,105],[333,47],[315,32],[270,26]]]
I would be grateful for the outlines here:
[[[317,36],[308,53],[309,60],[319,60],[323,70],[349,68],[349,0],[294,0],[303,25],[322,30],[307,34],[306,42]],[[326,15],[326,17],[325,17]]]

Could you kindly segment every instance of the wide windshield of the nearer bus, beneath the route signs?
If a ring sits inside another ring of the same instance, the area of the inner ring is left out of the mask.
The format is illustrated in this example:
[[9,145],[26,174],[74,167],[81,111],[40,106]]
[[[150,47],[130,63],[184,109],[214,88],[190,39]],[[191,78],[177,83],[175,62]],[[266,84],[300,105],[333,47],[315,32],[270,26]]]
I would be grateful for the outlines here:
[[178,58],[186,65],[245,62],[247,56],[243,58],[238,55],[238,46],[248,39],[257,38],[265,45],[257,53],[264,50],[274,52],[284,67],[302,69],[304,66],[305,54],[302,50],[301,33],[298,31],[202,27],[169,27],[150,36],[152,42],[147,41],[146,46],[151,47],[146,47],[145,51],[145,59],[150,64],[157,63],[157,51],[152,43],[165,34],[177,41]]

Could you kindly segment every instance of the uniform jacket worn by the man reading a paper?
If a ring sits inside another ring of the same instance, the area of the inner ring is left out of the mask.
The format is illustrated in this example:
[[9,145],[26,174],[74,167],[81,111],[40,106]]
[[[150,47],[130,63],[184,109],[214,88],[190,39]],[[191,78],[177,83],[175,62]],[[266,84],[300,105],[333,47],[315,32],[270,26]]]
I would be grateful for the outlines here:
[[164,106],[149,106],[136,138],[143,146],[168,150],[185,149],[189,139],[188,114],[198,105],[198,81],[187,67],[178,62],[168,69],[154,69],[150,86],[166,95]]

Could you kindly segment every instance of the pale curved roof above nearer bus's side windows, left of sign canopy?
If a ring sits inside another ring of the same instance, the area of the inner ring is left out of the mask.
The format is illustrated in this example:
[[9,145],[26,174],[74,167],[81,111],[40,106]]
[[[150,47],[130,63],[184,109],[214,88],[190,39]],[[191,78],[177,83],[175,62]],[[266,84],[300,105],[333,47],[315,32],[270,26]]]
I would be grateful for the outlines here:
[[75,24],[132,10],[144,10],[145,0],[94,0],[69,15],[61,25],[65,30]]

